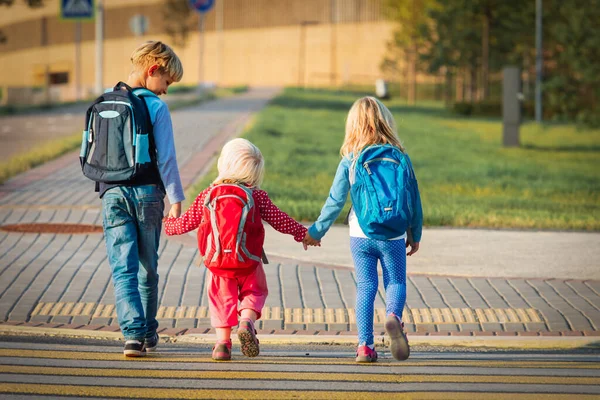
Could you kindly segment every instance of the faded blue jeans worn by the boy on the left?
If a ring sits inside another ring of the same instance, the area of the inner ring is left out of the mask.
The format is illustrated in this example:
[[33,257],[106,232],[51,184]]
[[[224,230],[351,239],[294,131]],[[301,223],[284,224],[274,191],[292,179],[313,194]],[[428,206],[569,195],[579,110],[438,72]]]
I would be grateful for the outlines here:
[[158,246],[164,197],[157,185],[118,186],[102,197],[117,317],[126,340],[142,341],[158,328]]

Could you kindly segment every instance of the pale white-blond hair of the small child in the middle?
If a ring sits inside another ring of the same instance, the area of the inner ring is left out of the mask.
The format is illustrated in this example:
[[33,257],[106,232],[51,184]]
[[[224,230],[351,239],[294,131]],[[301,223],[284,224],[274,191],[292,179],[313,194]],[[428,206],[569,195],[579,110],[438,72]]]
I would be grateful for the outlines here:
[[242,183],[258,188],[265,175],[262,153],[246,139],[233,139],[223,146],[217,161],[219,176],[214,184]]

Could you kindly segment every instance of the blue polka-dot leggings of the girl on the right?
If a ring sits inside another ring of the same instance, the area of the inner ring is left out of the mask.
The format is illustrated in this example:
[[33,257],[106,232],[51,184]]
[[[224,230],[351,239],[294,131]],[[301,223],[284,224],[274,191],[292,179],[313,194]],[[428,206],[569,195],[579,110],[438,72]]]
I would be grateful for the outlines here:
[[356,325],[358,343],[373,344],[373,308],[381,262],[385,288],[386,315],[402,317],[406,302],[406,242],[350,237],[350,250],[356,271]]

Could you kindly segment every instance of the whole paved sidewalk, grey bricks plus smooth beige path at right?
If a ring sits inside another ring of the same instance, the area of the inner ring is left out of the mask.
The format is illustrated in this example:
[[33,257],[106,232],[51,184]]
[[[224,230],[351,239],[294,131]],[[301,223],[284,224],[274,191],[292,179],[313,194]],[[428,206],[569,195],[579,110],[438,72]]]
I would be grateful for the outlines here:
[[[251,90],[173,113],[186,186],[275,93]],[[74,153],[0,186],[0,224],[5,228],[99,225],[99,206]],[[314,342],[323,335],[354,338],[356,285],[347,242],[346,228],[334,227],[322,248],[304,252],[291,238],[268,230],[270,295],[259,323],[263,337],[309,335]],[[596,233],[426,229],[422,250],[409,258],[406,328],[415,338],[595,340],[600,336],[599,249]],[[193,236],[163,236],[162,335],[212,332],[206,269],[196,259]],[[383,299],[380,290],[375,304],[378,335],[385,317]],[[0,231],[0,328],[10,326],[118,331],[101,233]]]

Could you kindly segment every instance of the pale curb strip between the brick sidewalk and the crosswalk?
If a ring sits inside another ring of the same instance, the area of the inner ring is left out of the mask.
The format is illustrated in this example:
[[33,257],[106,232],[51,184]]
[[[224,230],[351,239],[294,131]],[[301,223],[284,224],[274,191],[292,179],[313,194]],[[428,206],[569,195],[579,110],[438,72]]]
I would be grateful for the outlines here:
[[[121,341],[120,331],[49,328],[33,326],[0,326],[0,335],[10,336],[50,336],[79,339]],[[167,343],[213,344],[215,334],[159,334]],[[235,336],[235,335],[233,335]],[[260,342],[272,345],[356,345],[354,335],[290,335],[266,334],[259,332]],[[427,336],[408,335],[413,346],[461,347],[485,349],[527,349],[527,350],[568,350],[577,348],[600,349],[600,337],[597,336]],[[375,336],[376,344],[389,345],[382,335]]]

